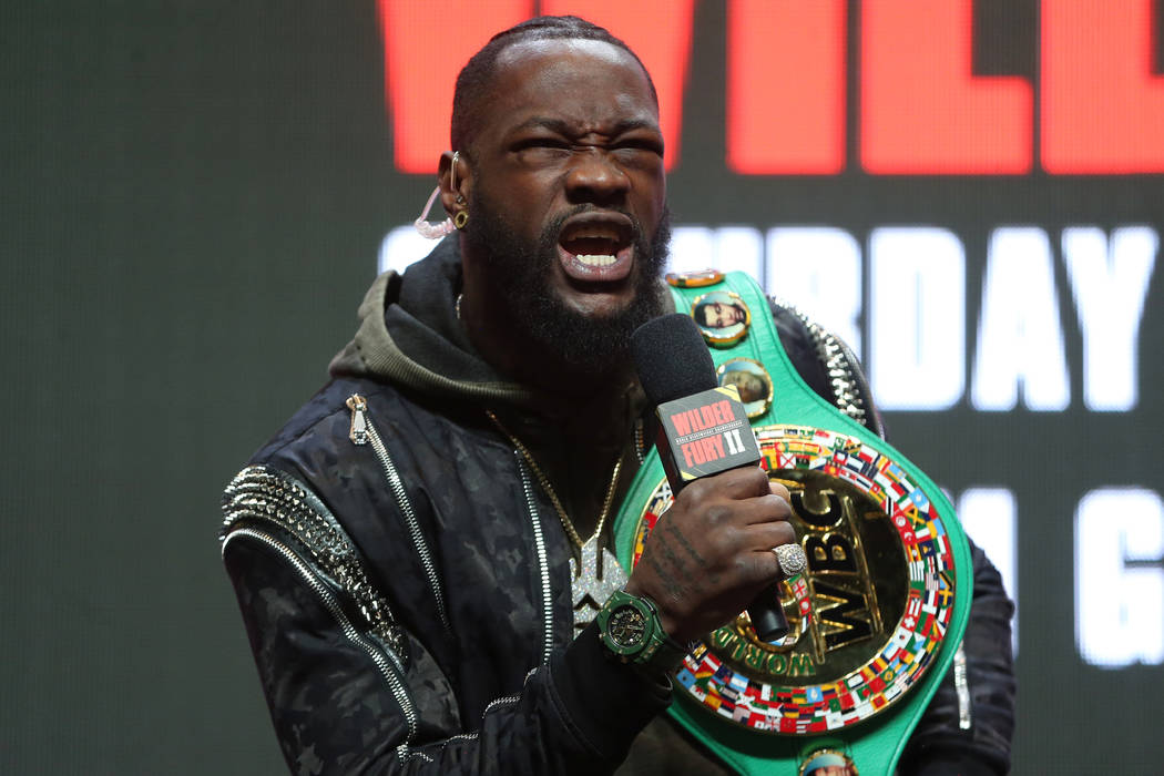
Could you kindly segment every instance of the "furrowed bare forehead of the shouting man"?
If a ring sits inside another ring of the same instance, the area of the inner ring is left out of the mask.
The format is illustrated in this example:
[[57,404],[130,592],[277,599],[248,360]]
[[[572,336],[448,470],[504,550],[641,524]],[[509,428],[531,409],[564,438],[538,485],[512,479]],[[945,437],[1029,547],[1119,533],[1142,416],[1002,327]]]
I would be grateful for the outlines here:
[[597,128],[626,121],[658,126],[659,109],[641,65],[603,41],[523,41],[497,58],[482,129],[504,131],[530,118]]

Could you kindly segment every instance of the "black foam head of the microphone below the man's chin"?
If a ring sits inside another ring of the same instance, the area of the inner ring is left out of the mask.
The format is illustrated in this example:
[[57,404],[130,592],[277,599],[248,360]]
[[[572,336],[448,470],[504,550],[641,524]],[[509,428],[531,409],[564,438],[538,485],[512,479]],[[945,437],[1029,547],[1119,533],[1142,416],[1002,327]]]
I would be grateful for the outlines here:
[[719,384],[703,335],[682,313],[652,319],[636,329],[631,353],[651,404],[673,401]]

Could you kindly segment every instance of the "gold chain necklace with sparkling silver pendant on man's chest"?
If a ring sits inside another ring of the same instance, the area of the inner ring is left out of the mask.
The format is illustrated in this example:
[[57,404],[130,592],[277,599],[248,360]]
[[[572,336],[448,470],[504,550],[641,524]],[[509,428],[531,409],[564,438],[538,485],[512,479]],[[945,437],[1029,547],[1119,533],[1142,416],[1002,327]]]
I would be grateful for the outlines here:
[[[502,425],[502,421],[497,419],[497,415],[492,411],[487,410],[485,414],[489,415],[489,420],[494,421],[494,425],[501,429],[502,434],[509,437],[509,441],[513,443],[513,447],[525,458],[534,477],[538,478],[541,490],[546,492],[549,501],[554,505],[554,510],[558,511],[558,519],[562,524],[562,529],[574,543],[574,547],[577,548],[580,557],[575,558],[573,553],[570,556],[570,600],[574,604],[574,635],[576,636],[598,615],[598,611],[606,603],[606,599],[616,590],[620,590],[626,585],[627,582],[626,571],[618,564],[618,558],[615,557],[615,554],[605,547],[601,547],[602,529],[606,525],[606,517],[610,514],[610,507],[615,501],[615,491],[618,490],[618,475],[623,470],[623,453],[619,450],[618,461],[615,462],[615,471],[610,475],[610,485],[606,487],[606,498],[603,499],[602,512],[598,514],[598,525],[595,526],[590,539],[582,541],[582,536],[579,535],[574,522],[566,514],[566,507],[562,506],[558,493],[554,492],[553,485],[549,484],[549,478],[541,471],[538,462],[533,460],[533,455],[530,454],[528,448],[521,443],[521,440],[509,433],[509,429]],[[638,440],[638,433],[636,433],[636,440]]]

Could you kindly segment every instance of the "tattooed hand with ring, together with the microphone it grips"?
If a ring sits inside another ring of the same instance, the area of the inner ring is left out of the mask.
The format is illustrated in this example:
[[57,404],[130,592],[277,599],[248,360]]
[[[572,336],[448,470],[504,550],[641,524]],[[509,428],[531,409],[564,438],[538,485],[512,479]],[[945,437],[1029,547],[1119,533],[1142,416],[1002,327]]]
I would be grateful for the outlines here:
[[788,622],[779,579],[804,568],[788,524],[788,491],[757,465],[760,451],[743,405],[718,387],[687,315],[645,323],[631,347],[658,406],[659,455],[675,503],[652,531],[627,590],[658,601],[676,639],[703,635],[745,606],[761,640],[780,639]]

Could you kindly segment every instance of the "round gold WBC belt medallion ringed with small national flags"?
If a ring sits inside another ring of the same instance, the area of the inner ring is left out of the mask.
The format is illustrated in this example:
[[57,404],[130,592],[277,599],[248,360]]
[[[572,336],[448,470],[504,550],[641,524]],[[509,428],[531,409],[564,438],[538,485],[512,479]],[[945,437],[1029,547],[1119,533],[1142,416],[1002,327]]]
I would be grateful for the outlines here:
[[[803,588],[780,585],[789,633],[762,642],[741,613],[687,656],[676,688],[754,731],[847,727],[892,706],[937,655],[953,612],[950,542],[924,491],[874,447],[804,426],[755,432],[808,557]],[[636,563],[672,500],[666,480],[647,500]]]

